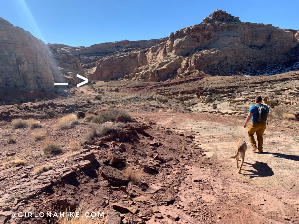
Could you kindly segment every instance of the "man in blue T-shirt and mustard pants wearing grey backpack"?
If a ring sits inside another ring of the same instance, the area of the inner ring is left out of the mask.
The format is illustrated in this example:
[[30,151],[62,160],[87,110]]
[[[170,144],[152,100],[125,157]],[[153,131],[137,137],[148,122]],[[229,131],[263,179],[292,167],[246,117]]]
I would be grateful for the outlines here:
[[[246,128],[248,121],[248,138],[253,147],[252,151],[258,150],[263,153],[263,134],[267,126],[267,118],[269,117],[269,107],[262,104],[262,97],[257,96],[254,99],[255,105],[251,106],[249,113],[243,125]],[[254,140],[254,133],[257,133],[257,142]]]

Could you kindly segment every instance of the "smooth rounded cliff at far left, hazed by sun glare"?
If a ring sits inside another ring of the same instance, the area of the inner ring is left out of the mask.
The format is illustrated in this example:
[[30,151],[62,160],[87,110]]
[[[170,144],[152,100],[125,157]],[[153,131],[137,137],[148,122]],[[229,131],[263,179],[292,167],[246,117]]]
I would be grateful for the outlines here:
[[0,88],[51,91],[63,81],[45,44],[0,18]]

